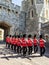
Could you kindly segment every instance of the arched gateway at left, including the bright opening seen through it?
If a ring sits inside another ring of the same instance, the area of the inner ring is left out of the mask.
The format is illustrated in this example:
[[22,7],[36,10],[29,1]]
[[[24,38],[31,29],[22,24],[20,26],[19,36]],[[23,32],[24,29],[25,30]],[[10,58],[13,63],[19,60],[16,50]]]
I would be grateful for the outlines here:
[[10,24],[6,22],[0,22],[0,41],[4,41],[6,38],[6,35],[10,34],[10,27],[11,27]]

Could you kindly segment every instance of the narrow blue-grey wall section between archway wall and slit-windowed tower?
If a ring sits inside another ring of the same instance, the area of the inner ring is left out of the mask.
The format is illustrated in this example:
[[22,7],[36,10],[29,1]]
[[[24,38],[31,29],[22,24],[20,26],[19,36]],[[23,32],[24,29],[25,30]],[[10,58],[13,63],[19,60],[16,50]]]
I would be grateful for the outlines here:
[[26,33],[26,13],[24,11],[21,11],[19,15],[19,32],[20,34]]

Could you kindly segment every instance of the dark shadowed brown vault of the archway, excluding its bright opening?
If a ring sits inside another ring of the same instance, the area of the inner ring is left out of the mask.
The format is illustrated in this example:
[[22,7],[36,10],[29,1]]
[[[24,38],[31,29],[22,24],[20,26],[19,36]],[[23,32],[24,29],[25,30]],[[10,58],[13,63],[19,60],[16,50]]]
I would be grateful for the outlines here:
[[10,34],[10,27],[11,27],[10,24],[8,24],[6,22],[0,22],[0,29],[3,29],[4,30],[4,33],[3,33],[4,34],[4,39],[3,39],[3,41],[5,40],[6,35],[9,35]]

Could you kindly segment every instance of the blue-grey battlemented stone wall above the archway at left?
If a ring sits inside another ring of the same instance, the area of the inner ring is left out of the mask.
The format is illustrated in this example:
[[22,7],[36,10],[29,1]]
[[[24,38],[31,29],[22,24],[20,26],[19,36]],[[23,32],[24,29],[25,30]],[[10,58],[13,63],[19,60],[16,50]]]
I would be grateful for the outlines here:
[[14,35],[19,27],[20,6],[14,5],[12,2],[0,1],[0,22],[8,23],[10,34]]

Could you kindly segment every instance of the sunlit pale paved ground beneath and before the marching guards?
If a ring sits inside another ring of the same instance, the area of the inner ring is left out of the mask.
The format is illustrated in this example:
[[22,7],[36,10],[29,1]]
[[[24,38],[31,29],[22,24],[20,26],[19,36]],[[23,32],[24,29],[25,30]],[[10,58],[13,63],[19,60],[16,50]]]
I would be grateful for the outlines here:
[[36,53],[24,58],[6,49],[5,44],[0,44],[0,65],[49,65],[49,50],[48,48],[46,50],[45,55],[42,57]]

